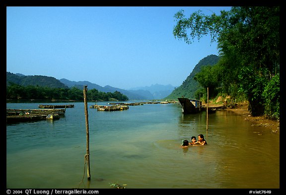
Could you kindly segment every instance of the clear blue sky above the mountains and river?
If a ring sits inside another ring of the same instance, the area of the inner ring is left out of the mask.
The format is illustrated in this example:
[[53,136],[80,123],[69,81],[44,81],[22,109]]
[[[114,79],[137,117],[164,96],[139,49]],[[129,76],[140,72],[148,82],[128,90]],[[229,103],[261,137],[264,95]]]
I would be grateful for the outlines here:
[[218,55],[210,37],[175,39],[174,15],[231,7],[7,7],[6,71],[89,81],[122,89],[180,86],[195,65]]

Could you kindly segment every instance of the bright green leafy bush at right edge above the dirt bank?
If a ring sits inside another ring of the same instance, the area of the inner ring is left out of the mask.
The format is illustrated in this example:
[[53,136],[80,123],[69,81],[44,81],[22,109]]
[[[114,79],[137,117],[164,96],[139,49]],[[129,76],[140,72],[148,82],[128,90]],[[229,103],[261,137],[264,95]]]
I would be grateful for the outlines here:
[[280,118],[280,75],[275,75],[262,93],[265,99],[265,114],[272,119]]

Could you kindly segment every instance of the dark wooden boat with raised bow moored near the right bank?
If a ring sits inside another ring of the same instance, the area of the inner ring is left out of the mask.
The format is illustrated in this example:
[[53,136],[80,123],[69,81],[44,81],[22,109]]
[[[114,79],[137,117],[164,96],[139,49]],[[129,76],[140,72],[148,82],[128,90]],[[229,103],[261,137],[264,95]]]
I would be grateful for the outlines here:
[[202,102],[196,99],[178,98],[184,114],[195,114],[201,112]]

